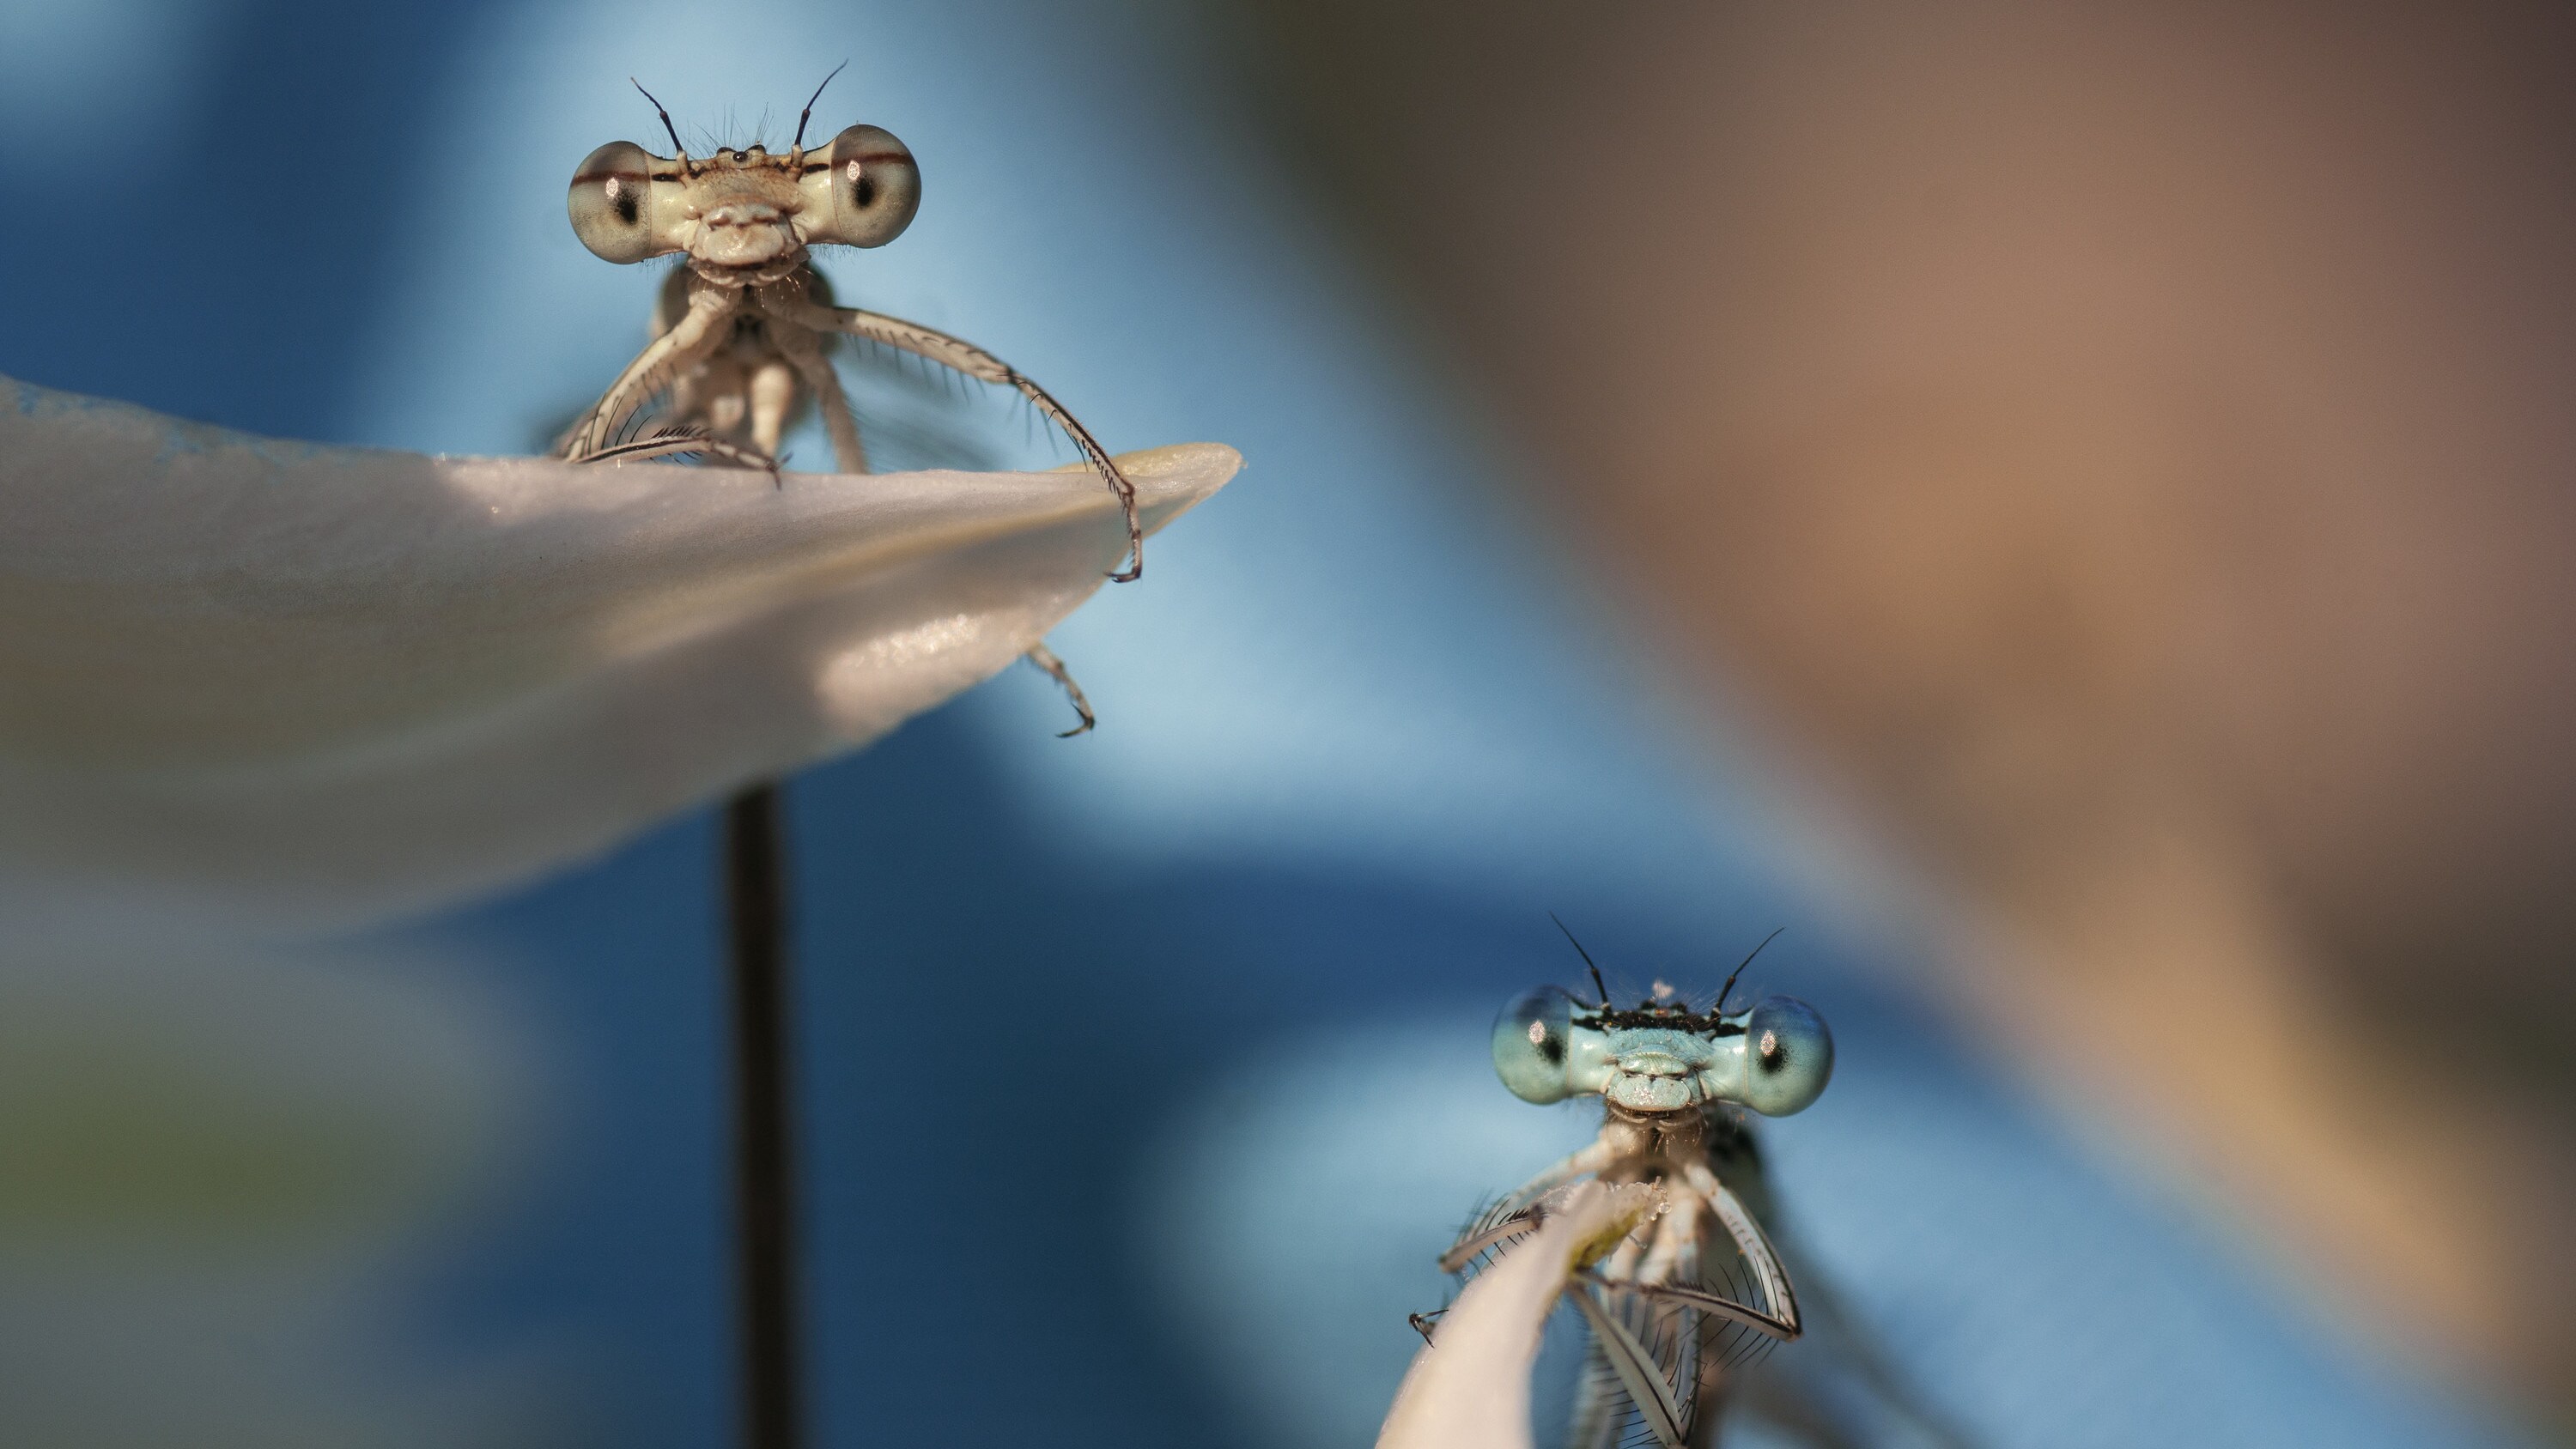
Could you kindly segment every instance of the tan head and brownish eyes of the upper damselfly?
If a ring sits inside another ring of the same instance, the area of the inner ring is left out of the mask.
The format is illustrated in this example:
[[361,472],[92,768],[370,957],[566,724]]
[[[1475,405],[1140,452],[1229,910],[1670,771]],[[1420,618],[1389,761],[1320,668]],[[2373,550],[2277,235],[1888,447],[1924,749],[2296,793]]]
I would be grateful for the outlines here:
[[884,247],[922,206],[920,165],[881,126],[850,126],[806,149],[799,124],[786,152],[706,157],[688,154],[670,113],[662,126],[677,157],[608,142],[572,172],[572,234],[603,260],[688,252],[706,275],[768,278],[801,263],[806,247]]

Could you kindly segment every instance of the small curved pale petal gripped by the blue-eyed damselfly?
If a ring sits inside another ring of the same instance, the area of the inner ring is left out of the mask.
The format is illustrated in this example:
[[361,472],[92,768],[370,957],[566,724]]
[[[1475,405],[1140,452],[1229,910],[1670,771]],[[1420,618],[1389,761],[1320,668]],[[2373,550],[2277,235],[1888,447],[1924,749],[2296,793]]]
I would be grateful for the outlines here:
[[1378,1449],[1530,1449],[1530,1364],[1574,1269],[1654,1210],[1646,1184],[1582,1181],[1548,1220],[1476,1274],[1404,1372]]

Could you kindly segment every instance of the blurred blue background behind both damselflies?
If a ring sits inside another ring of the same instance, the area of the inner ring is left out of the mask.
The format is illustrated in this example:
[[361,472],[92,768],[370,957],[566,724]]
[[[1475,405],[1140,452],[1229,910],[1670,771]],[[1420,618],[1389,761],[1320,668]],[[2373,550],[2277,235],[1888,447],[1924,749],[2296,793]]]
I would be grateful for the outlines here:
[[[768,113],[775,142],[850,57],[817,131],[904,136],[925,208],[829,257],[840,291],[1012,358],[1113,448],[1247,456],[1054,638],[1097,736],[1051,739],[1015,672],[791,785],[819,1444],[1365,1441],[1448,1230],[1587,1130],[1484,1063],[1504,996],[1577,978],[1548,911],[1615,978],[1698,991],[1788,924],[1752,983],[1842,1042],[1767,1138],[1790,1233],[1981,1439],[2494,1434],[1973,1066],[1837,924],[1790,788],[1674,715],[1188,13],[15,0],[0,57],[18,378],[528,450],[641,342],[659,275],[562,216],[590,147],[659,147],[626,77],[693,139]],[[286,1387],[193,1441],[729,1441],[711,849],[672,821],[348,947],[487,1022],[515,1076],[471,1186],[330,1269],[361,1328],[263,1359]],[[113,1367],[8,1398],[46,1392],[144,1423],[100,1441],[188,1421]]]

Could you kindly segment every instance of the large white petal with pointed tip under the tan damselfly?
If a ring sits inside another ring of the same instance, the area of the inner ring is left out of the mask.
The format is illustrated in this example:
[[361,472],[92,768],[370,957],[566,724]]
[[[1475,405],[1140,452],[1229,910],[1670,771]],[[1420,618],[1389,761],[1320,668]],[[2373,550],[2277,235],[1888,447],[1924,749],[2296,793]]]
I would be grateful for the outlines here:
[[[1131,453],[1146,528],[1242,458]],[[345,927],[598,852],[1020,656],[1084,468],[762,474],[276,443],[0,378],[0,909]]]

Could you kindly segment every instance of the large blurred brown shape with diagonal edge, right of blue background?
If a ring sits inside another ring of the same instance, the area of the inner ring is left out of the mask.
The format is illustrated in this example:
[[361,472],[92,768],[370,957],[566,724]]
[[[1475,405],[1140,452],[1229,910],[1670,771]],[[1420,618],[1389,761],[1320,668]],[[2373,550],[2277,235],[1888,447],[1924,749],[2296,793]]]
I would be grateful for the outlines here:
[[1273,3],[1319,193],[1965,1019],[2576,1405],[2576,21]]

